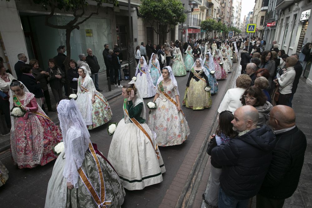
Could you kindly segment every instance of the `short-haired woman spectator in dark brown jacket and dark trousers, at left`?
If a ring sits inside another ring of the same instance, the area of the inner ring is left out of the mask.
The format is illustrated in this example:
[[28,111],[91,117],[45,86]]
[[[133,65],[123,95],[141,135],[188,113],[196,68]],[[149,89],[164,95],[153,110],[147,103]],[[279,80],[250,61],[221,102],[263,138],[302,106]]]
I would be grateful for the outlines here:
[[[48,83],[50,80],[49,72],[46,72],[39,67],[38,60],[32,59],[29,61],[29,64],[32,65],[32,75],[36,78],[37,82],[39,82],[41,89],[43,90],[43,95],[46,101],[46,105],[48,107],[48,111],[55,112],[56,110],[52,109],[51,106],[51,99],[48,88]],[[42,109],[45,109],[44,105],[42,105]]]

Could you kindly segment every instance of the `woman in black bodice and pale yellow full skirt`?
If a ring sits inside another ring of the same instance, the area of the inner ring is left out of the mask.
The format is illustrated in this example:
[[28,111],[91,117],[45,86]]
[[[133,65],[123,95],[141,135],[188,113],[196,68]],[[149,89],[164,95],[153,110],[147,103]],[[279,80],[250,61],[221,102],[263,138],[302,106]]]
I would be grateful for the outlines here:
[[193,110],[210,108],[212,105],[210,85],[207,77],[207,69],[203,67],[200,58],[195,63],[188,76],[183,105]]

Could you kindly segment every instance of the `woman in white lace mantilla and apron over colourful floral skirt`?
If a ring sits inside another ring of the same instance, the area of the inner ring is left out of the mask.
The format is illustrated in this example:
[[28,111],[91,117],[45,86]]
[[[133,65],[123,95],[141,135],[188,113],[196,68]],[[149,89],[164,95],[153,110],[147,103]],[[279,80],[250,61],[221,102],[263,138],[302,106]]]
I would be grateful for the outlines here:
[[99,93],[85,66],[78,69],[77,106],[88,129],[94,129],[112,118],[112,111],[105,97]]

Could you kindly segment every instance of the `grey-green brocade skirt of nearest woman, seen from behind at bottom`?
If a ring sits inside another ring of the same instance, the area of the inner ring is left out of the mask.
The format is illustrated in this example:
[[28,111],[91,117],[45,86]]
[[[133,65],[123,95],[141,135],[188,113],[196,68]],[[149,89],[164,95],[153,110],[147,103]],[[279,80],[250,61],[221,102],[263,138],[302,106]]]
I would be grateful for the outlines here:
[[[124,202],[124,188],[114,169],[97,155],[105,181],[105,201],[111,201],[109,207],[120,208]],[[80,208],[97,207],[95,201],[79,177],[78,188],[67,189],[67,180],[63,177],[66,159],[65,152],[61,152],[53,167],[52,176],[48,183],[45,208]],[[96,163],[89,150],[85,152],[85,159],[81,166],[95,190],[100,193],[100,183]]]

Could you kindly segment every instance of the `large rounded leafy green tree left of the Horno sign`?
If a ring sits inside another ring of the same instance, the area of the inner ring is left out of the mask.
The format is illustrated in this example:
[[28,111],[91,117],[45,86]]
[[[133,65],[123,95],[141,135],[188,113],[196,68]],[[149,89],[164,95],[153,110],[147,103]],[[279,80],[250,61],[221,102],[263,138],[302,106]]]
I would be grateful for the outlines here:
[[[162,42],[171,27],[186,19],[182,2],[178,0],[142,0],[139,15],[152,26]],[[158,27],[154,27],[155,23]]]

